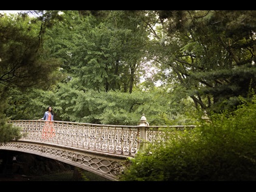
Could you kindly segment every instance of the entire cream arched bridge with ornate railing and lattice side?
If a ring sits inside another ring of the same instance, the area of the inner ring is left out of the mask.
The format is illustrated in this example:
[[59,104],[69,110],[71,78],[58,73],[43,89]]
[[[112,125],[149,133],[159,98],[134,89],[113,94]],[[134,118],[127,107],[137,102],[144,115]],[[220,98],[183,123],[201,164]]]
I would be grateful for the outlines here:
[[138,126],[42,120],[10,120],[9,123],[21,128],[22,138],[2,143],[0,149],[56,159],[109,180],[118,180],[122,162],[134,157],[147,145],[144,143],[165,140],[173,130],[195,127],[149,126],[145,116]]

